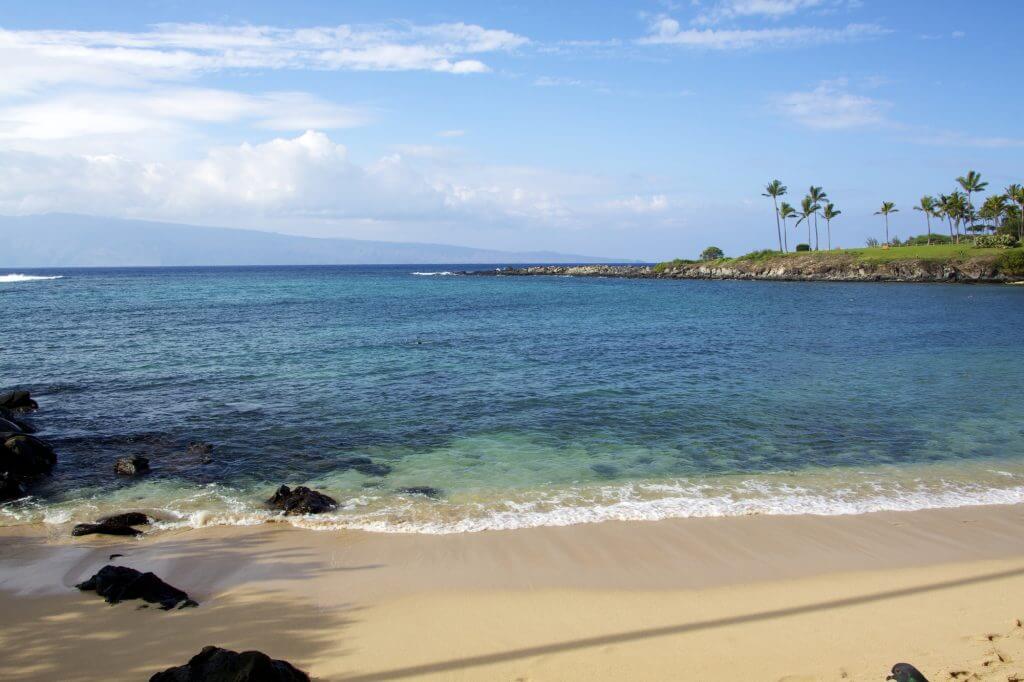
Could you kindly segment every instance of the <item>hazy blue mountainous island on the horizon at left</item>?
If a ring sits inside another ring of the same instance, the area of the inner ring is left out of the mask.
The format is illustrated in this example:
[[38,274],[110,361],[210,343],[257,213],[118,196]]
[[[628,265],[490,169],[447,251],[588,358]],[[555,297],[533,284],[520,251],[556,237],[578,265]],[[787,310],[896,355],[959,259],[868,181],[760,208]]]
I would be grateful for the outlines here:
[[52,213],[0,216],[0,267],[622,262],[552,251],[295,237]]

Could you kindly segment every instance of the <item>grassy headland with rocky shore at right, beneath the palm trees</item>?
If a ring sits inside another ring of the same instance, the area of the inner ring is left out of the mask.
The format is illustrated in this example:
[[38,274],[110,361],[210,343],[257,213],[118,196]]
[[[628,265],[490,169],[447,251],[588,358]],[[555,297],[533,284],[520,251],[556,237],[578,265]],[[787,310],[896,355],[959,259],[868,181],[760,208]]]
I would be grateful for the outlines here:
[[656,265],[529,265],[473,274],[570,275],[649,280],[794,282],[1024,282],[1024,248],[969,244],[871,247],[837,251],[759,251],[738,258],[673,260]]

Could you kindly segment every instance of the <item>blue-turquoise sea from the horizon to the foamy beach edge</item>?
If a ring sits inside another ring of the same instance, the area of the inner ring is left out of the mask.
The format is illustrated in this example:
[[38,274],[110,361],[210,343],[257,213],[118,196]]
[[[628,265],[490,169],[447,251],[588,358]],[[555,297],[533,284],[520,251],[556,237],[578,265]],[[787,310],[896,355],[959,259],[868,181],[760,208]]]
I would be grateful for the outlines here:
[[59,456],[0,522],[259,522],[283,482],[342,503],[297,523],[432,532],[1024,501],[1024,288],[413,273],[452,269],[0,272]]

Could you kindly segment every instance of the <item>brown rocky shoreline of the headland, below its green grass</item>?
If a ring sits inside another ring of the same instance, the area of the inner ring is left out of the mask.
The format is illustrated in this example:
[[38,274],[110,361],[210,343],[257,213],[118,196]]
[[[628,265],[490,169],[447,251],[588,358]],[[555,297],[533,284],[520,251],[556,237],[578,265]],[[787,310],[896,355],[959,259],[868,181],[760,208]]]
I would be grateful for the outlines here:
[[946,282],[1005,284],[1024,282],[1007,271],[997,256],[944,260],[895,258],[874,261],[847,253],[787,254],[759,259],[708,262],[670,261],[658,265],[528,265],[466,272],[477,275],[556,275],[638,280],[766,280],[780,282]]

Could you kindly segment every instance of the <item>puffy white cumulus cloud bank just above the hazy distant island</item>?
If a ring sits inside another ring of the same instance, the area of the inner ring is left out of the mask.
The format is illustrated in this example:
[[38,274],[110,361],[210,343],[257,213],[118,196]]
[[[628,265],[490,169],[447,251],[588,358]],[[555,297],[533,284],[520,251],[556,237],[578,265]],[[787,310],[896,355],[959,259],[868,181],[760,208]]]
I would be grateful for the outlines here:
[[[212,148],[200,159],[0,152],[0,213],[67,211],[246,225],[276,221],[458,220],[465,224],[590,226],[606,213],[608,178],[475,165],[401,147],[356,164],[323,132]],[[656,211],[665,198],[636,207]]]

